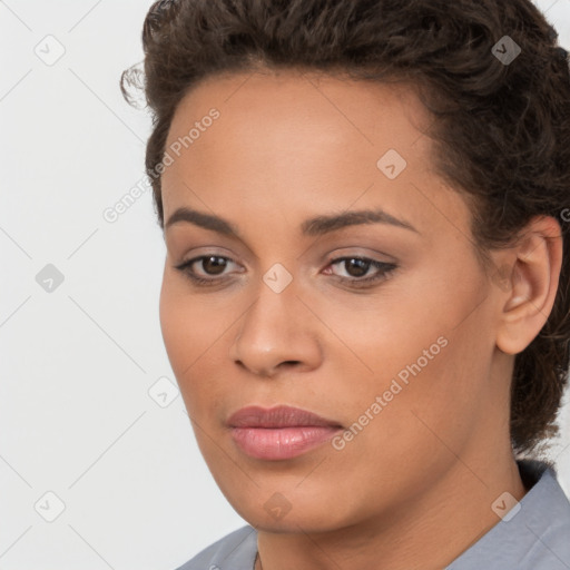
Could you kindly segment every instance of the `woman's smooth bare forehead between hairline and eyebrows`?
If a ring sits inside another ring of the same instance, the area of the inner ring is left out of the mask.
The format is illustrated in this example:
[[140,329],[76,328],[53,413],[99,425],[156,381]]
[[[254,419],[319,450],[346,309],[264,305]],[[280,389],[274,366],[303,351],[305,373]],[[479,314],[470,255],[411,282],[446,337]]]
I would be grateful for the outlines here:
[[[205,120],[213,109],[217,118]],[[410,184],[434,178],[423,134],[430,120],[405,83],[301,71],[208,78],[184,97],[170,125],[166,148],[178,141],[179,156],[163,174],[165,219],[185,205],[232,217],[263,204],[306,215],[307,207],[337,210],[356,200],[395,212],[402,199],[412,219],[425,198]],[[395,179],[379,166],[385,156],[404,168]]]

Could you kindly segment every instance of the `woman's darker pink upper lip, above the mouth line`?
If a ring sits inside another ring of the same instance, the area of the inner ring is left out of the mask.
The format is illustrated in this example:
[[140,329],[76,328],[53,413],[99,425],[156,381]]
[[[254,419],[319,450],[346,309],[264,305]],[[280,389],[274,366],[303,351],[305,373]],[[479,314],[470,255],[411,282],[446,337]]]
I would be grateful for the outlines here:
[[291,428],[302,425],[342,428],[334,420],[327,420],[308,410],[289,405],[277,405],[269,409],[248,405],[233,413],[227,420],[227,425],[230,428]]

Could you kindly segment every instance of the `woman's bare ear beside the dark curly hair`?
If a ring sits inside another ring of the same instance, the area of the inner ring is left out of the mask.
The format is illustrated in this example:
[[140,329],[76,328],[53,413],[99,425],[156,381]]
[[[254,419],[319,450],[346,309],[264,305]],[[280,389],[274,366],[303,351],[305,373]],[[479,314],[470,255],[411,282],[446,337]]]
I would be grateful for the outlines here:
[[561,234],[556,218],[537,216],[510,249],[511,263],[502,267],[509,275],[508,287],[503,288],[508,293],[497,333],[497,346],[507,354],[522,352],[552,311],[562,266]]

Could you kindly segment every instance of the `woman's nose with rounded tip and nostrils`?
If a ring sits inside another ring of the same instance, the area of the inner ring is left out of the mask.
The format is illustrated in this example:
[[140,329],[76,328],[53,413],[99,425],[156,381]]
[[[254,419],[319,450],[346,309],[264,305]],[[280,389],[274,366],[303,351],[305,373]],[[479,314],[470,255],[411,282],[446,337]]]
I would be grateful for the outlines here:
[[318,320],[292,285],[275,293],[262,284],[236,330],[229,355],[238,366],[263,377],[292,367],[313,370],[322,358]]

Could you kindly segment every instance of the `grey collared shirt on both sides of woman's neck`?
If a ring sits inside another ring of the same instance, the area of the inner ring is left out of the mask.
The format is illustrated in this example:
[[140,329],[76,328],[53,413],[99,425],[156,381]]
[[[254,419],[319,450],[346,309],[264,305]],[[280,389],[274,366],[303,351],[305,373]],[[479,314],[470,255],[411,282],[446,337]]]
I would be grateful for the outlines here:
[[[570,502],[556,472],[538,461],[518,463],[531,489],[446,570],[570,570]],[[253,570],[256,553],[257,531],[246,524],[177,570]]]

